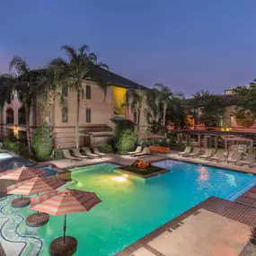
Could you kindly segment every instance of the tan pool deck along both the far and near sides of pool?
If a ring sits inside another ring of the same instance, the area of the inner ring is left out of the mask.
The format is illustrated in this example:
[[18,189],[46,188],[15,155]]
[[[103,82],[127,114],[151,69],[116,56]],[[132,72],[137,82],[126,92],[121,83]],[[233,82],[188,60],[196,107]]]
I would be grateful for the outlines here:
[[[55,164],[58,168],[66,170],[96,163],[128,165],[135,159],[126,155],[108,154],[104,158],[86,161],[71,163],[70,160],[63,159],[40,164]],[[158,154],[142,159],[151,163],[171,159],[256,174],[256,164],[249,168],[227,164],[224,161],[212,163],[199,158],[181,157],[178,152],[173,151],[170,154]],[[250,227],[254,225],[256,225],[256,186],[245,191],[234,201],[216,197],[206,199],[130,244],[115,256],[252,256],[248,239]],[[2,245],[4,247],[5,244]],[[0,255],[4,255],[1,254],[1,240]]]

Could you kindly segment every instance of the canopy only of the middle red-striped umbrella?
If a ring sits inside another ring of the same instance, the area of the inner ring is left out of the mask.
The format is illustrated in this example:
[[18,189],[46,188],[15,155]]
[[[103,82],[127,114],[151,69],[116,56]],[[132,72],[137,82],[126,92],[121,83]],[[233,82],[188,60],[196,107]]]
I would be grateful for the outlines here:
[[65,184],[65,181],[56,178],[35,177],[31,180],[22,181],[7,188],[7,194],[33,195],[51,190]]

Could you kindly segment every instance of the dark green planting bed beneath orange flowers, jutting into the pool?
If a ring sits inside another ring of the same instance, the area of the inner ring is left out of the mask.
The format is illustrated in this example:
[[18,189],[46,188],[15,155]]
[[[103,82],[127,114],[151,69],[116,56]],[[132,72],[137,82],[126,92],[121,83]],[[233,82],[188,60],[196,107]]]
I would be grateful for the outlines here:
[[170,172],[167,169],[163,169],[161,167],[157,167],[154,165],[151,165],[150,168],[146,169],[146,170],[141,170],[136,166],[132,166],[132,165],[127,165],[127,166],[123,166],[123,167],[118,167],[115,169],[116,171],[119,172],[125,172],[128,174],[132,174],[141,178],[150,178],[159,174],[163,174],[165,172]]

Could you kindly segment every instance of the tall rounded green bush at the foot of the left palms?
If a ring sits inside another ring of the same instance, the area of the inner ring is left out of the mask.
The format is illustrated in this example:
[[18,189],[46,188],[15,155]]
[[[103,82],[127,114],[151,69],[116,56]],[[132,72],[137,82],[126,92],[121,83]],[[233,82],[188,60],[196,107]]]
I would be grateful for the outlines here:
[[50,128],[43,123],[40,128],[33,130],[33,149],[39,160],[47,160],[53,149],[53,139]]

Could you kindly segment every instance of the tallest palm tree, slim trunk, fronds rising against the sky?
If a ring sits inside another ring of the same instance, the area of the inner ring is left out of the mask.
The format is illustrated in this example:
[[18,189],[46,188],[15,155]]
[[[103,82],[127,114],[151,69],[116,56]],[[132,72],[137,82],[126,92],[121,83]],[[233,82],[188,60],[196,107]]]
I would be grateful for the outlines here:
[[86,45],[79,49],[70,46],[63,46],[66,52],[67,60],[57,57],[50,62],[50,66],[56,66],[66,75],[68,90],[76,93],[76,122],[75,122],[75,146],[79,148],[79,113],[80,102],[84,99],[84,86],[86,80],[93,80],[89,75],[92,66],[102,66],[108,68],[102,62],[98,62],[93,53],[89,53]]

